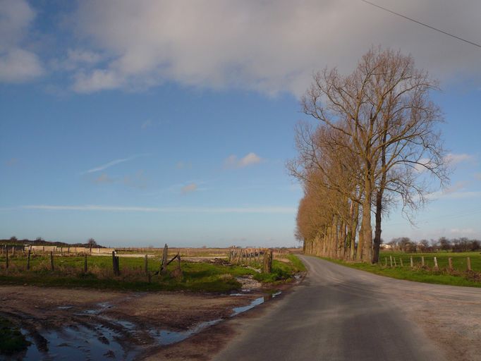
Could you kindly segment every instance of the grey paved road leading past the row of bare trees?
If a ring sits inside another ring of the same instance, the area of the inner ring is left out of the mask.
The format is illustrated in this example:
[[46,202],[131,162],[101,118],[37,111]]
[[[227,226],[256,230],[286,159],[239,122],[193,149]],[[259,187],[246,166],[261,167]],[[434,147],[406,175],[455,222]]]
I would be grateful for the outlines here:
[[[269,305],[214,360],[446,360],[406,316],[413,299],[479,301],[479,289],[388,279],[301,256],[308,276],[293,292]],[[404,305],[404,306],[403,306]]]

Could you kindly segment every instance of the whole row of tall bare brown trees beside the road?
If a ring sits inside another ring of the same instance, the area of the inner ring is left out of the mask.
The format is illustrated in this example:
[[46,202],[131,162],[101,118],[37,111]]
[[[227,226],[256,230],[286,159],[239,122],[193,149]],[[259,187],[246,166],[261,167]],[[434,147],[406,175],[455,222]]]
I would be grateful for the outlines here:
[[351,74],[314,75],[301,105],[317,122],[298,125],[287,165],[304,188],[296,236],[306,253],[378,262],[382,216],[401,202],[410,219],[430,178],[447,181],[434,89],[411,56],[380,47]]

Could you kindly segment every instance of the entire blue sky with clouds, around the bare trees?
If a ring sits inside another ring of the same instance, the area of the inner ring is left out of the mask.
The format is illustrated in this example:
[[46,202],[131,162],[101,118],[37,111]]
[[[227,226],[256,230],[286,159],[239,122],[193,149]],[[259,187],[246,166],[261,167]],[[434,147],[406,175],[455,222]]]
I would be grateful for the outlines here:
[[[376,4],[480,44],[479,1]],[[439,79],[451,183],[382,238],[481,238],[481,49],[360,0],[0,0],[0,238],[293,246],[312,73],[371,46]]]

